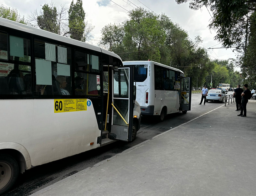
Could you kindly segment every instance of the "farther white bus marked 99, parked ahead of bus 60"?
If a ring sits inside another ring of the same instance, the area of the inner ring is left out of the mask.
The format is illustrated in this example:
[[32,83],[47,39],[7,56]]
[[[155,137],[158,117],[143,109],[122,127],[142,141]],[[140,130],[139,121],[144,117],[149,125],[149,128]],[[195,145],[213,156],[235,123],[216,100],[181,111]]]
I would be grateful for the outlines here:
[[142,115],[158,115],[163,121],[167,114],[191,108],[191,78],[179,69],[154,61],[126,61],[134,67],[137,101]]

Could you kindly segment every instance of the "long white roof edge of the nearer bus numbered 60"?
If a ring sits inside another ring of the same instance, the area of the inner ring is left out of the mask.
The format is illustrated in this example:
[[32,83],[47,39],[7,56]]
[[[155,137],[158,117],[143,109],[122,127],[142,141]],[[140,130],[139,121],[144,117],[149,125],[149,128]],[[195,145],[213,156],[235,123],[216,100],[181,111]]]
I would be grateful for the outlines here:
[[117,57],[122,61],[122,59],[118,55],[116,55],[115,53],[110,52],[108,50],[105,50],[101,47],[94,46],[94,45],[89,44],[89,43],[74,40],[74,39],[69,38],[69,37],[64,37],[64,36],[58,35],[56,33],[52,33],[52,32],[49,32],[49,31],[42,30],[42,29],[37,29],[35,27],[31,27],[29,25],[24,25],[24,24],[21,24],[19,22],[15,22],[15,21],[12,21],[12,20],[3,19],[1,17],[0,17],[0,24],[1,24],[1,26],[9,27],[11,29],[24,31],[24,32],[27,32],[27,33],[32,33],[34,35],[47,37],[47,38],[50,38],[52,40],[57,40],[57,41],[60,41],[60,42],[69,43],[69,44],[74,45],[74,46],[80,46],[80,47],[83,47],[83,48],[88,48],[89,50],[102,52],[104,54]]

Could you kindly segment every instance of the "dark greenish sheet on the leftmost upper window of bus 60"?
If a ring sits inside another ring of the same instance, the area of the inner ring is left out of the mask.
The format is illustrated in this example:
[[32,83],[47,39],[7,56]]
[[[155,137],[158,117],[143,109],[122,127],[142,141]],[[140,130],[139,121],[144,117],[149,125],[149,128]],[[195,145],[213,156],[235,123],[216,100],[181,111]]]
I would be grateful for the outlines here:
[[10,56],[24,57],[23,38],[10,35]]

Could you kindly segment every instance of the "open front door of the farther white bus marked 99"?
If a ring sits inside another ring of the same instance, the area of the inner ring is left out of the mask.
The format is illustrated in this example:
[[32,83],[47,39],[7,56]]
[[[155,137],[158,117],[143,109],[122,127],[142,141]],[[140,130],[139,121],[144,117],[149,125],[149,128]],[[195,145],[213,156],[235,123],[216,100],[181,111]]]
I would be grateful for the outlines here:
[[191,110],[191,77],[182,77],[181,79],[181,98],[180,110]]

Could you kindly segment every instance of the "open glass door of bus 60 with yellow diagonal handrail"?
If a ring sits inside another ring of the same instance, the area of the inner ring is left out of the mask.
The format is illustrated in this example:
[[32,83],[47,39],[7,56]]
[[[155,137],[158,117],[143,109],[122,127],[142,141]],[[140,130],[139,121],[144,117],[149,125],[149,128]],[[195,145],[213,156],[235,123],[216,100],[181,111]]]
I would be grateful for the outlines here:
[[132,140],[133,124],[133,66],[112,69],[111,138]]

